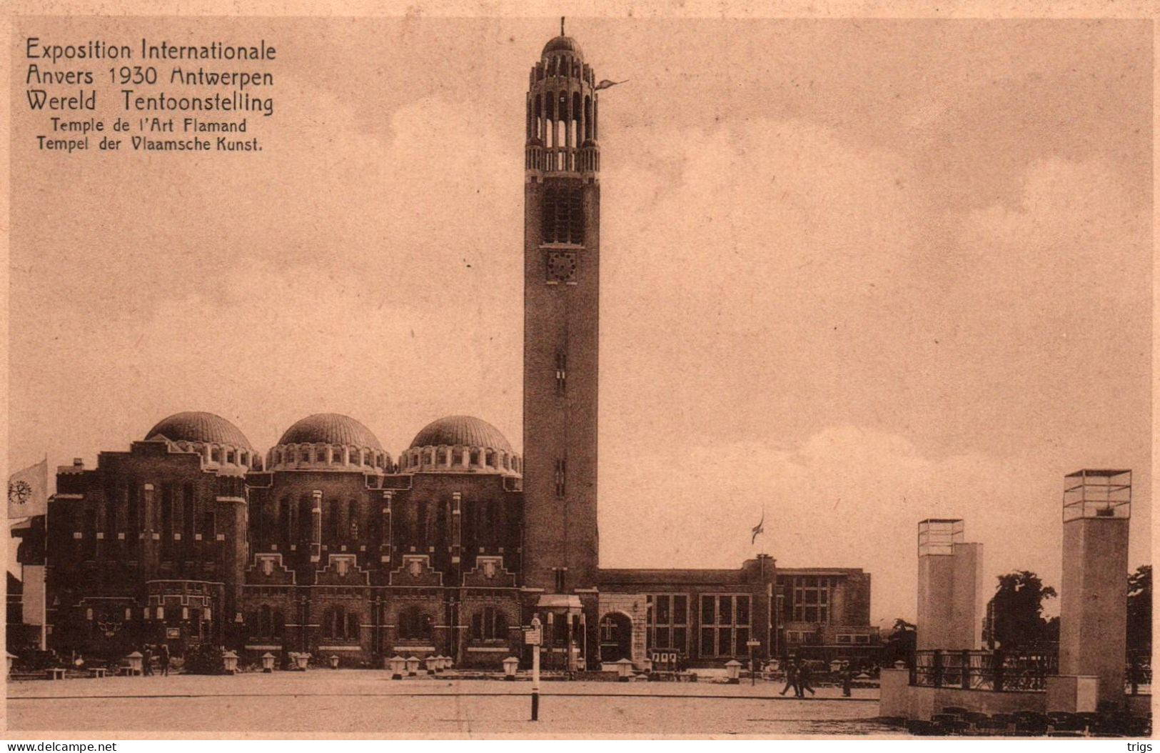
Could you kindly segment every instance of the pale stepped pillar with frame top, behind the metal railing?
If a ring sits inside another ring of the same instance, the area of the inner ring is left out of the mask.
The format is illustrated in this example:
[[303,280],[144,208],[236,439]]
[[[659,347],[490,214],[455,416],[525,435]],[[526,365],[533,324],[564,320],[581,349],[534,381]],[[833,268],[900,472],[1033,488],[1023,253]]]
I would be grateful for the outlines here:
[[979,647],[983,544],[964,538],[959,519],[919,523],[919,649]]

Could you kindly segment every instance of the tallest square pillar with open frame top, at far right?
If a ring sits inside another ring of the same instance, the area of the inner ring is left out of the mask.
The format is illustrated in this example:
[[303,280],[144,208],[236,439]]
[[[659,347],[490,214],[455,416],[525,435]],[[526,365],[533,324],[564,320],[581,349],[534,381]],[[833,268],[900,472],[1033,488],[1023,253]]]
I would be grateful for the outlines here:
[[1064,482],[1059,674],[1094,675],[1099,700],[1122,705],[1132,472],[1087,469]]

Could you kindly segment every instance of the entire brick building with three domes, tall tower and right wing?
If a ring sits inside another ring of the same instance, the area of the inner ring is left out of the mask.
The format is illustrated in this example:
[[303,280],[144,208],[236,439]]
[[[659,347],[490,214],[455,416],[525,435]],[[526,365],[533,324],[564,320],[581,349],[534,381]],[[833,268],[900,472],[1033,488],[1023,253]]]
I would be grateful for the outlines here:
[[551,39],[527,94],[523,457],[471,417],[396,457],[345,415],[306,417],[264,454],[220,417],[172,415],[95,469],[59,469],[50,645],[495,667],[524,654],[532,616],[557,667],[876,642],[860,570],[599,567],[597,100],[575,41]]

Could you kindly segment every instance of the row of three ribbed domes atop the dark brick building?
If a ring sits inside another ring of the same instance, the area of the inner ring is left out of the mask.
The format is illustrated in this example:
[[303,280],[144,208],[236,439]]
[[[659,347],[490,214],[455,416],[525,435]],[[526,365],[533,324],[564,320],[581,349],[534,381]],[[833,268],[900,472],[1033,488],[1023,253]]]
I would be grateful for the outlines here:
[[415,435],[398,463],[370,429],[349,415],[316,413],[297,421],[262,456],[241,430],[215,413],[175,413],[146,441],[166,441],[205,463],[240,472],[260,470],[360,470],[380,473],[445,471],[520,475],[523,459],[498,428],[471,415],[448,415]]

